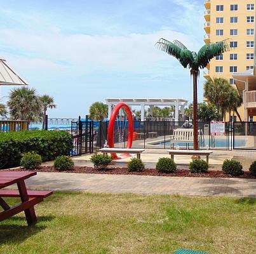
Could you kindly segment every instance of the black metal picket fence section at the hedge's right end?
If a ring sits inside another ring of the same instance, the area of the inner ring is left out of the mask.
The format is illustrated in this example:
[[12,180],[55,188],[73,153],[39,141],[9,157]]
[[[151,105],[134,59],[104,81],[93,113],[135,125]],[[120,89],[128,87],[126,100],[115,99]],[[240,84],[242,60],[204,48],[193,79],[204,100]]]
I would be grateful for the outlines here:
[[93,121],[86,119],[72,121],[71,123],[71,137],[73,142],[73,149],[71,156],[80,156],[82,154],[89,154],[93,152],[94,145],[94,124]]

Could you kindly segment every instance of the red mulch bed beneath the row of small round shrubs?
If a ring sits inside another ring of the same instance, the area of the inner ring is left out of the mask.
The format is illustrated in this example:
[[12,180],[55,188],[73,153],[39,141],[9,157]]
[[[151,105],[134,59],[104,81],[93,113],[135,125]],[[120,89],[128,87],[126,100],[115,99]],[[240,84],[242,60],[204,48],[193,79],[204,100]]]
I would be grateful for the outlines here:
[[[10,169],[10,171],[25,171],[24,168]],[[53,166],[40,166],[37,172],[59,172],[53,168]],[[67,173],[93,173],[93,174],[107,174],[107,175],[151,175],[160,177],[210,177],[210,178],[252,178],[256,179],[250,172],[245,173],[239,177],[232,177],[231,175],[225,175],[220,170],[209,170],[208,173],[190,173],[189,170],[177,169],[175,173],[159,173],[152,168],[145,168],[142,172],[128,172],[127,168],[114,168],[109,167],[107,170],[96,170],[95,168],[86,166],[75,166],[74,170],[62,171]]]

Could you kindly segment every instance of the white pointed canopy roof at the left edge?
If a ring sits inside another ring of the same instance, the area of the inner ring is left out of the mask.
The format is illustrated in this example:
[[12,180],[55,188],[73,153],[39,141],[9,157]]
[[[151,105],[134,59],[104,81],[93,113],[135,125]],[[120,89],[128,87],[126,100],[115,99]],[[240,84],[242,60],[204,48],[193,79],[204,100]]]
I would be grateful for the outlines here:
[[0,85],[27,85],[27,82],[0,58]]

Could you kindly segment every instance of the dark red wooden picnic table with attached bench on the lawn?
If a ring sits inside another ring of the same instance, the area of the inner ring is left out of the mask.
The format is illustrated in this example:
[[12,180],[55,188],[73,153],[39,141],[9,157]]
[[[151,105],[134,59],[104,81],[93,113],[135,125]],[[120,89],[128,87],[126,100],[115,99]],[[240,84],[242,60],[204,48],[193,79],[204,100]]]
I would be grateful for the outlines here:
[[[18,190],[0,190],[0,206],[4,210],[0,213],[0,222],[24,211],[27,224],[36,224],[37,218],[34,206],[42,202],[44,197],[53,193],[51,190],[27,190],[24,180],[36,174],[36,172],[28,171],[0,171],[0,189],[12,184],[18,186]],[[3,197],[20,197],[21,203],[10,207]]]

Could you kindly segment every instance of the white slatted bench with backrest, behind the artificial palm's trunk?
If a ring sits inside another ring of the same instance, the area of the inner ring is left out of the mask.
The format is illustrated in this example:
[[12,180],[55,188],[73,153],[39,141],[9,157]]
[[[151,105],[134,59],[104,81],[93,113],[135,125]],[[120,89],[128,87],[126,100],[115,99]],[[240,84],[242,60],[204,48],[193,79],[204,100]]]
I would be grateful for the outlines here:
[[[199,142],[201,142],[202,130],[198,130]],[[173,135],[170,136],[170,145],[174,148],[175,143],[188,144],[194,142],[194,129],[178,128],[173,130]]]

